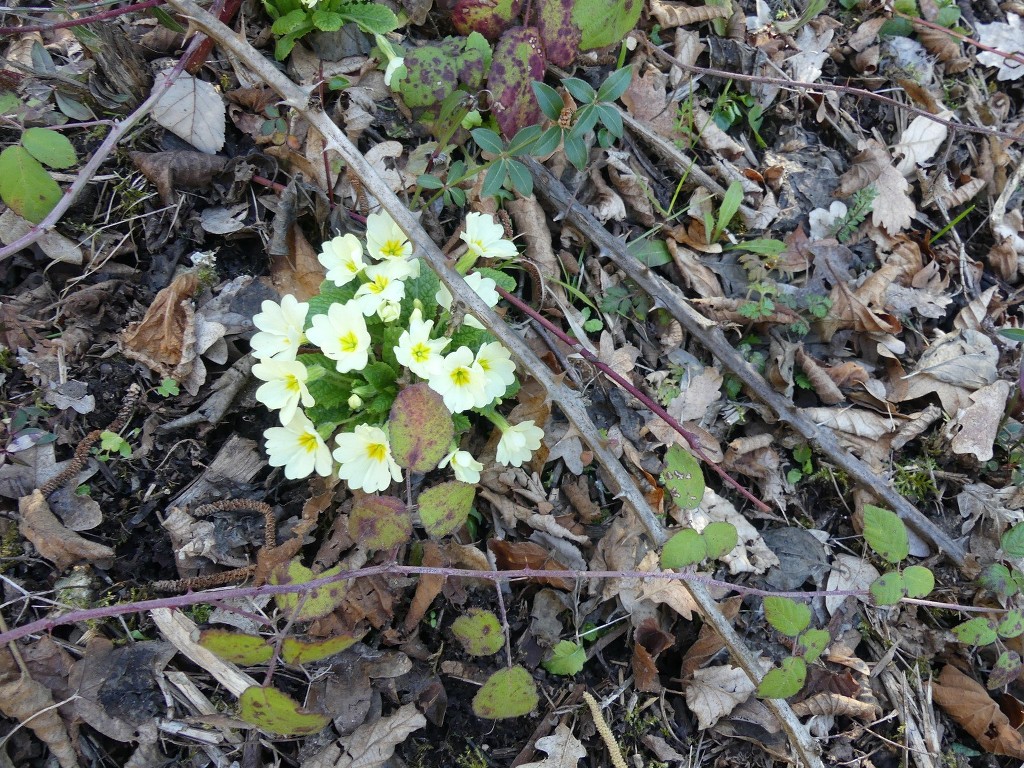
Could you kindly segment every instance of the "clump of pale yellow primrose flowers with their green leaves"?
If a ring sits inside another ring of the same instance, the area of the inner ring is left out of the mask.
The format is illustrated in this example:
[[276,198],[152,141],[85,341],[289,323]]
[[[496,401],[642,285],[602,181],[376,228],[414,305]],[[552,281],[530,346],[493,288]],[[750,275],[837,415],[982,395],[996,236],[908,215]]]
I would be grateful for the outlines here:
[[[480,258],[516,254],[490,216],[470,213],[462,239],[466,268]],[[543,430],[532,421],[509,424],[496,410],[517,386],[508,349],[471,315],[449,328],[452,294],[421,268],[390,216],[368,217],[365,250],[355,236],[344,234],[325,243],[318,259],[327,269],[318,296],[264,301],[253,317],[253,375],[264,382],[256,397],[281,417],[281,426],[264,433],[271,466],[284,467],[292,479],[336,472],[350,487],[385,490],[401,479],[388,414],[398,389],[416,380],[440,395],[457,425],[439,469],[451,467],[462,482],[479,481],[483,465],[458,446],[469,412],[502,430],[500,464],[518,467],[529,460]],[[498,303],[499,282],[514,285],[493,269],[473,271],[466,282],[488,306]]]

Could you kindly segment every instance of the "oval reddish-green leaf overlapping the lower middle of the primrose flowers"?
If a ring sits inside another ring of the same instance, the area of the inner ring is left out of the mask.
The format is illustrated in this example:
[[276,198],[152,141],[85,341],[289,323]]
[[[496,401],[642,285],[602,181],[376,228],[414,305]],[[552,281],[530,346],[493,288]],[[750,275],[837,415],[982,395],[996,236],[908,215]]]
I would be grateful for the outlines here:
[[414,472],[437,468],[455,437],[452,414],[426,382],[406,387],[394,398],[388,418],[391,455]]

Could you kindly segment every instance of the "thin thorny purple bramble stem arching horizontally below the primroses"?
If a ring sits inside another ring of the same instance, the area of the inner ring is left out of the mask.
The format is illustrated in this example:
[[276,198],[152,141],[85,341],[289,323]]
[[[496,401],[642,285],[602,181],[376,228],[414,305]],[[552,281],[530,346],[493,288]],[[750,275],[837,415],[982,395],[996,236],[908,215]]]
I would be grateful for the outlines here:
[[[337,582],[349,579],[362,579],[375,575],[440,575],[454,579],[484,579],[489,582],[511,582],[520,579],[565,579],[592,581],[599,579],[657,579],[671,582],[695,582],[706,584],[709,587],[720,587],[742,595],[755,595],[761,597],[790,597],[797,600],[810,600],[814,597],[865,597],[869,593],[867,590],[816,590],[814,592],[770,592],[759,590],[754,587],[742,587],[729,582],[719,581],[710,577],[700,575],[693,572],[670,572],[657,570],[537,570],[535,568],[521,568],[519,570],[461,570],[459,568],[432,567],[427,565],[372,565],[366,568],[346,570],[334,575],[315,579],[305,584],[265,584],[262,587],[232,587],[226,590],[209,590],[207,592],[189,592],[185,595],[175,595],[173,597],[162,597],[155,600],[138,600],[118,605],[104,605],[99,608],[86,608],[85,610],[73,610],[59,616],[40,618],[15,627],[7,632],[0,633],[0,645],[6,645],[14,640],[28,637],[37,632],[49,632],[55,627],[78,622],[90,622],[98,618],[110,618],[121,616],[126,613],[138,613],[157,608],[187,608],[201,603],[211,603],[221,600],[238,600],[243,597],[257,597],[260,595],[285,595],[291,593],[306,593],[310,590],[326,587]],[[912,603],[914,605],[928,605],[931,607],[946,608],[948,610],[958,610],[966,613],[1000,612],[999,609],[986,608],[977,605],[958,605],[956,603],[939,603],[931,600],[916,600],[903,598],[901,602]],[[1005,612],[1005,611],[1001,611]]]

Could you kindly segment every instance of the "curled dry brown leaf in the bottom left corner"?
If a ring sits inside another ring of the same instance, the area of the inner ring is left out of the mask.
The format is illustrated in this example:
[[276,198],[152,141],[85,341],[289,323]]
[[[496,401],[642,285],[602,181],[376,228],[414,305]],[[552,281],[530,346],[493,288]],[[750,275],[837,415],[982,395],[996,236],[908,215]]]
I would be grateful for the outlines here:
[[2,656],[0,712],[35,733],[57,759],[60,768],[78,768],[78,755],[50,689],[20,674],[7,648],[3,649]]

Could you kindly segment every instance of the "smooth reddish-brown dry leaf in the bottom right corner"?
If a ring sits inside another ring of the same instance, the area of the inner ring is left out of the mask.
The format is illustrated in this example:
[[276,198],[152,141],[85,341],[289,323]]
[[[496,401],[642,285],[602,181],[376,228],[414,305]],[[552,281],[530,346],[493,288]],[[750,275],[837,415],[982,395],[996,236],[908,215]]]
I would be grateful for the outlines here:
[[1024,759],[1024,736],[1011,727],[1007,716],[981,683],[947,664],[939,679],[932,681],[932,697],[982,749],[995,755]]

